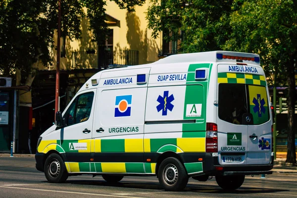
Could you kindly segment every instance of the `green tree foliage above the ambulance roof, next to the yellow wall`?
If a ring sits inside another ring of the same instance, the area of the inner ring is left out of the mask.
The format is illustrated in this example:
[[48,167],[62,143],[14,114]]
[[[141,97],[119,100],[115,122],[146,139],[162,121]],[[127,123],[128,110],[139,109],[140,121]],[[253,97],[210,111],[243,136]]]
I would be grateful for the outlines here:
[[180,52],[218,50],[218,39],[224,40],[231,29],[228,24],[218,28],[217,23],[222,16],[230,14],[232,2],[151,0],[147,12],[148,28],[153,30],[155,38],[163,31],[163,38],[167,41],[181,39]]

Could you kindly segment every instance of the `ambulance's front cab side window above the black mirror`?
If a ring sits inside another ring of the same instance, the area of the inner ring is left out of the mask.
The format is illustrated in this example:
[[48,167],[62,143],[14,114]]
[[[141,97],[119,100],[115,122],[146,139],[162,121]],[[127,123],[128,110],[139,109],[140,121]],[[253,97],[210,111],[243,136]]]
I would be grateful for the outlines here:
[[65,125],[70,126],[87,121],[90,117],[94,92],[79,95],[69,106],[63,118]]

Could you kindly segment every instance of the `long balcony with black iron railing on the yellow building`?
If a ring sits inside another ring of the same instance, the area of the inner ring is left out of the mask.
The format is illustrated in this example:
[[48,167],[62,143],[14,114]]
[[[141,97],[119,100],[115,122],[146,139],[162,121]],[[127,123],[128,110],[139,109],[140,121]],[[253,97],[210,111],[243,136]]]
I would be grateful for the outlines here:
[[139,51],[74,51],[72,53],[71,69],[109,69],[138,65]]

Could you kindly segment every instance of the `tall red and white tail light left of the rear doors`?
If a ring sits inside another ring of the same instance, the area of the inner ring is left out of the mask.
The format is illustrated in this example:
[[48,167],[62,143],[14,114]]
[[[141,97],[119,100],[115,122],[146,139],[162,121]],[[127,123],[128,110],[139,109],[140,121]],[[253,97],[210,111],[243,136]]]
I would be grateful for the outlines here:
[[206,123],[206,152],[218,152],[218,126]]

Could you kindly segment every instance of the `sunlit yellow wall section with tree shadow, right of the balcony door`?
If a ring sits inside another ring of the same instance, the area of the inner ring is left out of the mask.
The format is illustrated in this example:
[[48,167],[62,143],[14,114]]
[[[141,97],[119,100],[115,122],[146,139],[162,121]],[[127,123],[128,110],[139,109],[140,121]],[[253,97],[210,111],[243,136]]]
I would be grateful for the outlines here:
[[138,50],[139,64],[158,60],[160,38],[151,38],[152,30],[147,28],[146,14],[149,0],[143,6],[135,6],[135,12],[120,9],[114,1],[107,1],[106,14],[118,19],[120,26],[113,29],[113,50]]

